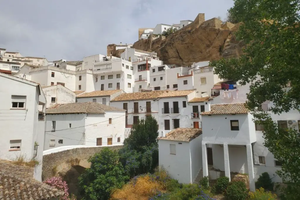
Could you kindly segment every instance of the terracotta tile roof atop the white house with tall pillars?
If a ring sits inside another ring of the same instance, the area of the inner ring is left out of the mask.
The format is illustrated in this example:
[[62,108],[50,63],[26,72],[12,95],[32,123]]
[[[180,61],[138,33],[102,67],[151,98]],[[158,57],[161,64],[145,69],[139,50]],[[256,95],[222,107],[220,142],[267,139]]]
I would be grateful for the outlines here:
[[230,115],[246,114],[249,112],[245,103],[211,104],[210,110],[202,112],[201,115]]

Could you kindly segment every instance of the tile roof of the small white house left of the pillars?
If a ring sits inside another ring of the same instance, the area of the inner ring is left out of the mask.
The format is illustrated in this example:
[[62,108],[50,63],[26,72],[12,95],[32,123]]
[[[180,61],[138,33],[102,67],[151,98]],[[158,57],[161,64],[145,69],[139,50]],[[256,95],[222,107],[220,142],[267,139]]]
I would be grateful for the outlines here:
[[190,142],[202,134],[201,128],[176,128],[166,136],[158,138],[159,140],[172,140],[178,142]]

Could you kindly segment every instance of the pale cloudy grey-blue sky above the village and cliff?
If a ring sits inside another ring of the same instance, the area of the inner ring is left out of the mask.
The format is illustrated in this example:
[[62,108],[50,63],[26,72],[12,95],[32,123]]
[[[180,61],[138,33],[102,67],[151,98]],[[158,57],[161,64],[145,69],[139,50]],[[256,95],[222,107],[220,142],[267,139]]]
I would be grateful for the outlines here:
[[136,42],[138,28],[178,24],[198,13],[224,19],[232,6],[233,0],[1,1],[0,48],[48,61],[82,60],[106,55],[108,44]]

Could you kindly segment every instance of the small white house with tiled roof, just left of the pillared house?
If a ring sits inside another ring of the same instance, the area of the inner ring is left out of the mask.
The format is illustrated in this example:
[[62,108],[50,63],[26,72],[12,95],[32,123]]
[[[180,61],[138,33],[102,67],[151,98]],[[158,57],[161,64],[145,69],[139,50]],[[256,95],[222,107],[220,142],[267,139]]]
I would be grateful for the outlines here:
[[202,130],[177,128],[158,138],[159,166],[179,183],[193,183],[202,169]]

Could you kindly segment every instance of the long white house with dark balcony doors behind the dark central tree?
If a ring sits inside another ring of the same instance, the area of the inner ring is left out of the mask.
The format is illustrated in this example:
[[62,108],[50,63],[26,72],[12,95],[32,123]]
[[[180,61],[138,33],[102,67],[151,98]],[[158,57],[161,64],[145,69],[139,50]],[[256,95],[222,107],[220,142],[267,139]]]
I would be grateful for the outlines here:
[[194,90],[142,91],[123,93],[110,102],[110,106],[125,109],[126,127],[137,119],[152,115],[158,121],[159,130],[193,127],[192,107],[188,101],[196,97]]

